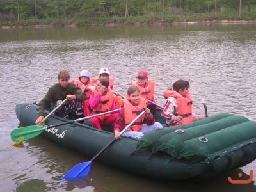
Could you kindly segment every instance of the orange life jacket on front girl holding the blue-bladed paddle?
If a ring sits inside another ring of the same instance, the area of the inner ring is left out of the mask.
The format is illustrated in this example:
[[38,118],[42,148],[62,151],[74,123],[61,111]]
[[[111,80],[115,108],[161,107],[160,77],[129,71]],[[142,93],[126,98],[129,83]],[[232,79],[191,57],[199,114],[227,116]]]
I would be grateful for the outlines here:
[[[124,99],[124,122],[125,126],[129,125],[140,113],[143,111],[143,108],[147,108],[146,100],[143,97],[140,97],[138,106],[134,106],[129,102],[129,100]],[[145,113],[131,125],[126,131],[140,131],[142,124],[144,122]]]

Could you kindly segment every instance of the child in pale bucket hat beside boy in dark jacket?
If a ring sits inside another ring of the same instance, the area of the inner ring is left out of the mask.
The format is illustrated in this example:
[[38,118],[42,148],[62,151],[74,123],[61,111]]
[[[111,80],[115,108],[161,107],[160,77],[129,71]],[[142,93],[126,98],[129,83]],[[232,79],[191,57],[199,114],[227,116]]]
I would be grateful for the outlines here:
[[93,86],[93,81],[90,79],[90,73],[88,70],[82,70],[80,76],[76,80],[72,80],[71,83],[76,84],[81,88],[82,92],[86,95],[87,99],[83,102],[84,116],[90,116],[89,98],[91,95],[90,86]]

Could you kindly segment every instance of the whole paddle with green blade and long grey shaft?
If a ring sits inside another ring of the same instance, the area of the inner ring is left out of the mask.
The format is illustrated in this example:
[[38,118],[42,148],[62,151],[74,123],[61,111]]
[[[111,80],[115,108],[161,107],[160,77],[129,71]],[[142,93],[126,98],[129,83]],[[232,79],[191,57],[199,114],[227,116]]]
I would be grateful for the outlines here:
[[79,122],[81,120],[86,120],[88,118],[93,118],[95,116],[106,115],[108,113],[114,113],[114,112],[117,112],[117,111],[120,111],[120,110],[121,109],[115,109],[115,110],[112,110],[112,111],[106,111],[104,113],[99,113],[99,114],[96,114],[96,115],[85,116],[83,118],[70,120],[70,121],[67,121],[67,122],[63,122],[61,124],[51,125],[49,127],[39,127],[38,125],[31,125],[31,126],[28,126],[28,127],[21,127],[19,129],[13,129],[13,131],[11,132],[11,138],[12,138],[13,141],[28,140],[28,139],[34,138],[35,136],[38,136],[40,133],[42,133],[46,129],[50,129],[52,127],[58,127],[58,126],[65,125],[65,124],[71,124],[71,123],[74,123],[74,122]]

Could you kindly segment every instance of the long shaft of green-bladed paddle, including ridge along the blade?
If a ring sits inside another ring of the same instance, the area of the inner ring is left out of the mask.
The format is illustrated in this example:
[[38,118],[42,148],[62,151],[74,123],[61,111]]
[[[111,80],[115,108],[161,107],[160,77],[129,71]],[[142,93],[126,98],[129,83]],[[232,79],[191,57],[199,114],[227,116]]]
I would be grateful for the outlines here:
[[[108,113],[114,113],[114,112],[117,112],[117,111],[120,111],[121,109],[115,109],[115,110],[112,110],[112,111],[106,111],[104,113],[99,113],[99,114],[96,114],[96,115],[91,115],[91,116],[85,116],[83,118],[77,118],[75,120],[70,120],[70,121],[67,121],[67,122],[63,122],[61,124],[56,124],[56,125],[51,125],[49,127],[41,127],[40,129],[33,129],[31,131],[27,131],[27,132],[20,132],[20,133],[17,133],[15,134],[15,137],[16,138],[19,138],[19,136],[24,136],[24,135],[27,135],[27,134],[31,134],[33,132],[39,132],[39,131],[44,131],[46,129],[51,129],[52,127],[59,127],[61,125],[66,125],[66,124],[72,124],[74,122],[79,122],[81,120],[86,120],[88,118],[93,118],[93,117],[96,117],[96,116],[100,116],[100,115],[106,115]],[[48,115],[47,115],[48,116]],[[19,129],[22,129],[22,128],[19,128]]]

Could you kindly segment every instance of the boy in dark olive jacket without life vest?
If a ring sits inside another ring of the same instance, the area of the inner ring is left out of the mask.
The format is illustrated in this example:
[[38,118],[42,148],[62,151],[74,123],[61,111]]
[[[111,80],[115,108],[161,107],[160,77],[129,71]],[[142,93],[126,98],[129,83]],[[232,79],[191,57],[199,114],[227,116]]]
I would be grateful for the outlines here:
[[82,102],[86,100],[86,95],[76,85],[69,83],[70,75],[67,70],[61,70],[58,73],[58,83],[51,86],[38,104],[38,118],[35,124],[40,124],[44,118],[44,110],[49,102],[51,102],[51,109],[56,108],[66,97],[67,102],[63,104],[55,114],[68,118],[76,115],[81,118],[83,115]]

